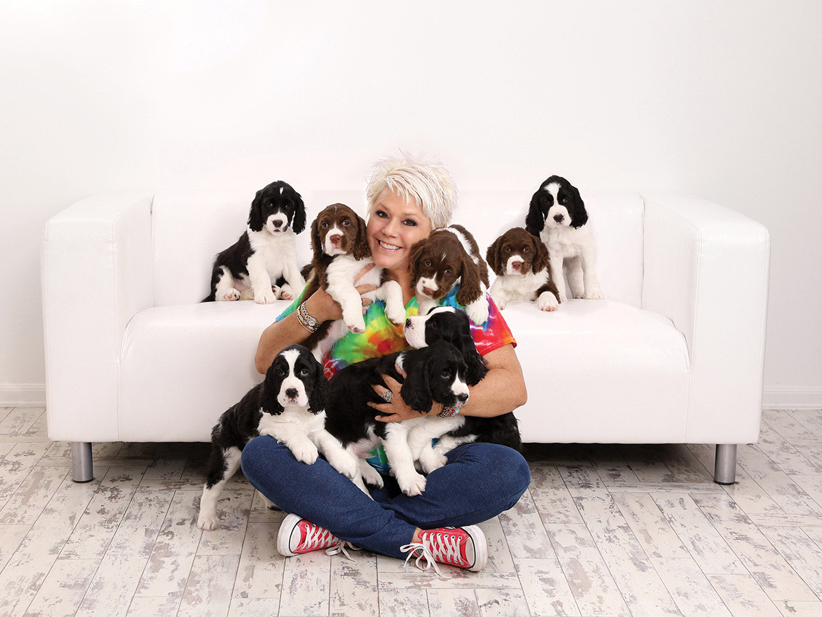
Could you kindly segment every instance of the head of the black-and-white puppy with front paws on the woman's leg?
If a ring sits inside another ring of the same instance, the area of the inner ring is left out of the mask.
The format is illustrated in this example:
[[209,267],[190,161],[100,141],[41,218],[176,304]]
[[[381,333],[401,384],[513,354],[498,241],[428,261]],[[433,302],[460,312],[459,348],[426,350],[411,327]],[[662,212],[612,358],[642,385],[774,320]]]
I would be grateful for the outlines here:
[[279,415],[286,407],[303,407],[317,414],[326,409],[327,402],[326,376],[309,350],[292,345],[275,356],[263,382],[262,411]]

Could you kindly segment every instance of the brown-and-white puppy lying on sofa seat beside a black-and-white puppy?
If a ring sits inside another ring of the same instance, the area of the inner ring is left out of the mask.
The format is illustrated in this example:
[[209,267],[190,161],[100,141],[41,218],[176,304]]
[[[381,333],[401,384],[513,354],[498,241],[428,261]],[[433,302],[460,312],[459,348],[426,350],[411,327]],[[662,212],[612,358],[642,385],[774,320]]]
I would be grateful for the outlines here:
[[545,244],[522,227],[506,231],[488,247],[485,258],[496,274],[492,299],[499,308],[509,302],[536,301],[539,310],[553,311],[560,304],[551,279]]

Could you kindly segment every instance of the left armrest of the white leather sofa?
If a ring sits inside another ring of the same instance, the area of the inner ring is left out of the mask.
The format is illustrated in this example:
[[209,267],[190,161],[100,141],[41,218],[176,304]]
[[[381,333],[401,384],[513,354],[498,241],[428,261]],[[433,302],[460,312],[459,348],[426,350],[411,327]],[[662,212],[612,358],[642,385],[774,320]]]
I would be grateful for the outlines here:
[[48,220],[41,285],[48,436],[118,438],[118,364],[128,321],[153,304],[152,195],[88,197]]

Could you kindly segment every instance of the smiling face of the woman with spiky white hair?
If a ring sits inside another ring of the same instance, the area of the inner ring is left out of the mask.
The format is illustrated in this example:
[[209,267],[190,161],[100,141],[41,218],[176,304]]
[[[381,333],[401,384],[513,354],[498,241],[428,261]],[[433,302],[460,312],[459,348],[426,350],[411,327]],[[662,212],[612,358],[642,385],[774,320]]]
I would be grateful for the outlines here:
[[431,220],[413,199],[406,202],[388,188],[376,198],[368,218],[367,237],[377,266],[408,271],[411,247],[431,232]]

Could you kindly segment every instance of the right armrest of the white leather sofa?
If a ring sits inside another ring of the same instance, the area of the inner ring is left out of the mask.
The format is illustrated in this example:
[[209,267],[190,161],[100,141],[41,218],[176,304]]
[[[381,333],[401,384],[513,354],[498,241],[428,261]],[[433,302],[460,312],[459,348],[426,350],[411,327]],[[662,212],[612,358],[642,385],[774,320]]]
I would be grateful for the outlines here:
[[762,409],[768,230],[694,197],[643,198],[642,308],[670,318],[686,338],[686,441],[755,442]]

